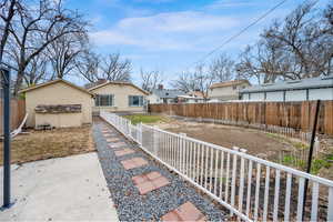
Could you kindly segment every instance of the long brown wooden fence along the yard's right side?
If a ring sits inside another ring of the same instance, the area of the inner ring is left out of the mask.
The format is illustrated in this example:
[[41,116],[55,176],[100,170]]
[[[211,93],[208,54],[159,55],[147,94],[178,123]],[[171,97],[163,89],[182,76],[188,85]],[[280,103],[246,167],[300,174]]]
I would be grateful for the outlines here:
[[[309,132],[315,101],[150,104],[150,112],[223,120],[241,125],[275,125]],[[222,122],[223,122],[222,121]],[[322,101],[317,132],[333,135],[333,101]]]

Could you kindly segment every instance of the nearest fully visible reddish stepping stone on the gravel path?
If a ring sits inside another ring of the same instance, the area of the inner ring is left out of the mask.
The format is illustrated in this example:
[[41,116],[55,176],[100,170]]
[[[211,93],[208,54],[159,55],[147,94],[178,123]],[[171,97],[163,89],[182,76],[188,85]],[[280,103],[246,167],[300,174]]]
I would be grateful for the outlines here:
[[159,172],[135,175],[132,178],[132,181],[139,189],[141,195],[170,184],[169,180]]

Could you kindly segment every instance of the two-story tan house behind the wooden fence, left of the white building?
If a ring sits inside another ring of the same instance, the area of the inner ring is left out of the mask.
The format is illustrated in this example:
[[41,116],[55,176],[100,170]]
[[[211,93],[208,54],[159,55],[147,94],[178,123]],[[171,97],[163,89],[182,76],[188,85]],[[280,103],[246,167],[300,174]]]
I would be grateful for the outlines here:
[[239,100],[240,90],[245,89],[249,85],[251,84],[248,80],[218,82],[210,87],[208,98],[216,101]]

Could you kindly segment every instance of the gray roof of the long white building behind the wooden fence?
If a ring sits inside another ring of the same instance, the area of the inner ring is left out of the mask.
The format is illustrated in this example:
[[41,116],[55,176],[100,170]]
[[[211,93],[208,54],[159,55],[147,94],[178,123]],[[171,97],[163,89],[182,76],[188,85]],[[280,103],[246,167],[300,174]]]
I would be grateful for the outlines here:
[[268,91],[302,90],[302,89],[319,89],[319,88],[333,88],[333,75],[252,85],[250,88],[240,90],[240,92],[241,93],[268,92]]

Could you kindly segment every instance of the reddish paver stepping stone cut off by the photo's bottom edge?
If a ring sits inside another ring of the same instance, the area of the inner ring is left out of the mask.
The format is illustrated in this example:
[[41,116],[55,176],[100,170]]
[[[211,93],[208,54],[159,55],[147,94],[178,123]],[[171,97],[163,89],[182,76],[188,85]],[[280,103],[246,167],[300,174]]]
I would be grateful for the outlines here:
[[185,202],[162,216],[162,221],[206,221],[206,218],[191,202]]

